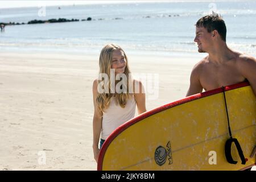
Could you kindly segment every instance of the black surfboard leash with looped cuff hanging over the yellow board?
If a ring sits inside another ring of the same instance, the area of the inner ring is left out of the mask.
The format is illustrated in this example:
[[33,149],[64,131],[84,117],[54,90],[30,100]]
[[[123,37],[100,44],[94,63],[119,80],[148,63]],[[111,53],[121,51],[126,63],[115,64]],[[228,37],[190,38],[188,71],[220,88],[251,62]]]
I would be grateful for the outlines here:
[[243,155],[243,151],[242,148],[240,146],[240,143],[238,142],[238,140],[236,138],[232,137],[232,133],[231,133],[231,129],[230,129],[230,124],[229,124],[229,112],[228,112],[228,106],[226,104],[226,95],[225,95],[225,88],[224,86],[222,86],[222,91],[224,94],[224,101],[225,101],[225,107],[226,107],[226,115],[227,115],[227,119],[228,119],[228,128],[229,128],[229,139],[226,140],[225,143],[225,156],[226,156],[226,160],[230,163],[230,164],[237,164],[237,161],[233,160],[232,158],[232,154],[231,154],[231,147],[232,147],[232,143],[234,142],[236,144],[237,147],[237,151],[238,154],[242,160],[242,164],[246,163],[246,159],[245,156]]

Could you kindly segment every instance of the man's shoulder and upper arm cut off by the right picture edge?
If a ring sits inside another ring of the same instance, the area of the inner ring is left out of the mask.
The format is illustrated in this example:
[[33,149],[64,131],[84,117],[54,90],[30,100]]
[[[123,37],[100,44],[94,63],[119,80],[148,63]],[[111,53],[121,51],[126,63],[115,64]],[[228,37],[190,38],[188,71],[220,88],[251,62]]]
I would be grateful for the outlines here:
[[251,56],[242,55],[237,61],[237,67],[251,85],[256,96],[256,59]]

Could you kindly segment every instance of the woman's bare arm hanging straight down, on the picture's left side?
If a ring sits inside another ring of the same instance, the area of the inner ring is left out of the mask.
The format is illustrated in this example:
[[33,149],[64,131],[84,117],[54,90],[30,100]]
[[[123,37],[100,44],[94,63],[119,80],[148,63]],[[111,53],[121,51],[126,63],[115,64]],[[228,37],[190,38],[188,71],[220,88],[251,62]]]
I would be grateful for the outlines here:
[[93,81],[93,104],[94,104],[94,115],[93,115],[93,155],[96,162],[98,162],[98,155],[100,154],[100,149],[98,148],[98,142],[101,135],[102,127],[102,112],[98,109],[96,104],[96,98],[98,95],[97,90],[98,81]]

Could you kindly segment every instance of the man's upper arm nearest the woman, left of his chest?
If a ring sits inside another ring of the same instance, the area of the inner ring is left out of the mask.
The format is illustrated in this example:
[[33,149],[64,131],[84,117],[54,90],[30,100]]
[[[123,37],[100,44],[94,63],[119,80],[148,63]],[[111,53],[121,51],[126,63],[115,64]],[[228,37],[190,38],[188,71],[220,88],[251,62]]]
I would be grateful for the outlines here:
[[203,91],[203,86],[200,83],[200,64],[197,63],[195,67],[192,69],[191,76],[190,76],[190,85],[186,97],[191,96],[196,93],[201,93]]

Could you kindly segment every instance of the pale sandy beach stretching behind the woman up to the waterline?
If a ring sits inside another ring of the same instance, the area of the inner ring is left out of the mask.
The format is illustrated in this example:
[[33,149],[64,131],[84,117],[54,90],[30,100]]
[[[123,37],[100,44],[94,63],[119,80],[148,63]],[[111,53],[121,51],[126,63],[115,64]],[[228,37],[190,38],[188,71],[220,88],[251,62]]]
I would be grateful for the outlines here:
[[[159,76],[158,97],[147,97],[147,110],[183,98],[191,69],[202,57],[127,55],[133,73]],[[96,170],[92,82],[97,74],[98,55],[1,52],[0,170]]]

